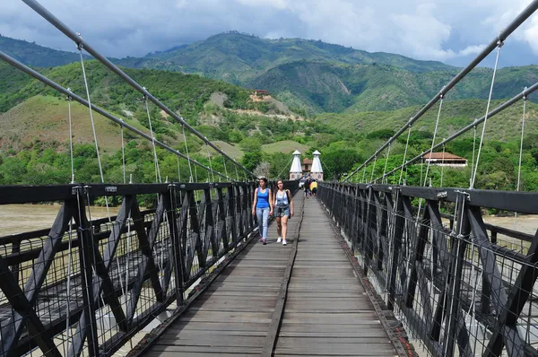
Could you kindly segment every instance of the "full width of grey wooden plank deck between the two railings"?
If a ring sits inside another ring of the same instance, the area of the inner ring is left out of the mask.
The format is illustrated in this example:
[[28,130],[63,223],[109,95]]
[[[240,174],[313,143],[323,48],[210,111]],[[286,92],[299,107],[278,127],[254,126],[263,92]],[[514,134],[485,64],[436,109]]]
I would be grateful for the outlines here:
[[302,196],[295,200],[288,246],[272,224],[268,244],[253,241],[147,354],[260,355],[281,317],[275,307],[299,236],[274,355],[397,355],[323,209],[306,200],[301,222]]

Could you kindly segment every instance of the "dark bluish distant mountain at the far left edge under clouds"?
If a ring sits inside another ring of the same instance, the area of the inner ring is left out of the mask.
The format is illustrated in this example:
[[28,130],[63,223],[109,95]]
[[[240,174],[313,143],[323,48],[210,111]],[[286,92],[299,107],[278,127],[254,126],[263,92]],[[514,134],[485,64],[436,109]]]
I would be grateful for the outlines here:
[[[36,45],[22,39],[10,39],[0,35],[0,50],[22,62],[34,67],[54,67],[80,61],[75,52],[61,51]],[[84,55],[85,58],[88,56]]]

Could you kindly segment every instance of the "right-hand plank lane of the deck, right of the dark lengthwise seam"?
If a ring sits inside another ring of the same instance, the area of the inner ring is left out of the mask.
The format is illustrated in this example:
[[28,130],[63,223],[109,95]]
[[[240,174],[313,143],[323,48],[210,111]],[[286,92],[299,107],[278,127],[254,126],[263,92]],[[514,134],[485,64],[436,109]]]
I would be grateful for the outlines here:
[[316,199],[305,202],[275,356],[397,355]]

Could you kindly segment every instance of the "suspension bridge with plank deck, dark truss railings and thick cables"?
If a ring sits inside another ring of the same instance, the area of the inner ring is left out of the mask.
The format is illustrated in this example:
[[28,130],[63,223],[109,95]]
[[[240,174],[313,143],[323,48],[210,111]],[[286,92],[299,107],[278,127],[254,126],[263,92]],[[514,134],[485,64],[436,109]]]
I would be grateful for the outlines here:
[[[101,182],[78,183],[72,166],[69,184],[0,186],[0,205],[61,204],[49,229],[0,231],[0,355],[538,355],[538,232],[490,224],[483,215],[495,209],[517,222],[518,214],[538,213],[538,194],[520,192],[519,181],[514,191],[477,187],[482,144],[473,150],[469,187],[443,187],[442,174],[433,186],[431,160],[420,186],[404,177],[435,150],[444,159],[456,137],[473,131],[476,142],[479,127],[483,143],[488,120],[516,103],[523,104],[523,143],[525,103],[538,83],[497,108],[490,102],[500,49],[538,1],[341,182],[320,182],[307,199],[298,180],[285,181],[296,207],[286,247],[257,243],[252,172],[38,2],[23,2],[77,45],[86,92],[2,51],[0,58],[64,94],[69,106],[86,106],[92,124],[94,112],[116,122],[122,152],[124,130],[151,142],[155,183],[127,183],[124,157],[121,183],[105,182],[101,166]],[[149,135],[91,104],[82,51],[143,95]],[[484,116],[439,141],[447,93],[495,51]],[[208,165],[190,157],[187,140],[182,153],[155,138],[150,103],[204,143]],[[437,103],[430,150],[407,157],[413,125]],[[406,132],[404,161],[391,170],[385,163],[376,177],[377,159],[388,158]],[[100,161],[94,128],[93,135]],[[178,157],[178,180],[161,178],[157,147]],[[210,148],[224,172],[214,170]],[[179,161],[187,161],[187,179]],[[197,182],[197,170],[208,182]],[[156,204],[144,209],[139,201],[148,195]],[[104,198],[108,206],[112,197],[119,212],[93,218],[92,203]],[[270,237],[273,231],[272,224]]]

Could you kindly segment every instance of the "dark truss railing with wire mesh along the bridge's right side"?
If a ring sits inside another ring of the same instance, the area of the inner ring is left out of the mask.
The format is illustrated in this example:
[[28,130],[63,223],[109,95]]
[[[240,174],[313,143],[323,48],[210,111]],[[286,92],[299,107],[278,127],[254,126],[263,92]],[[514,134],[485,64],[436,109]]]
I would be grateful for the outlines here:
[[[538,194],[325,183],[317,196],[387,307],[430,355],[538,355],[538,231],[482,216],[536,214]],[[417,212],[419,198],[426,205]]]

